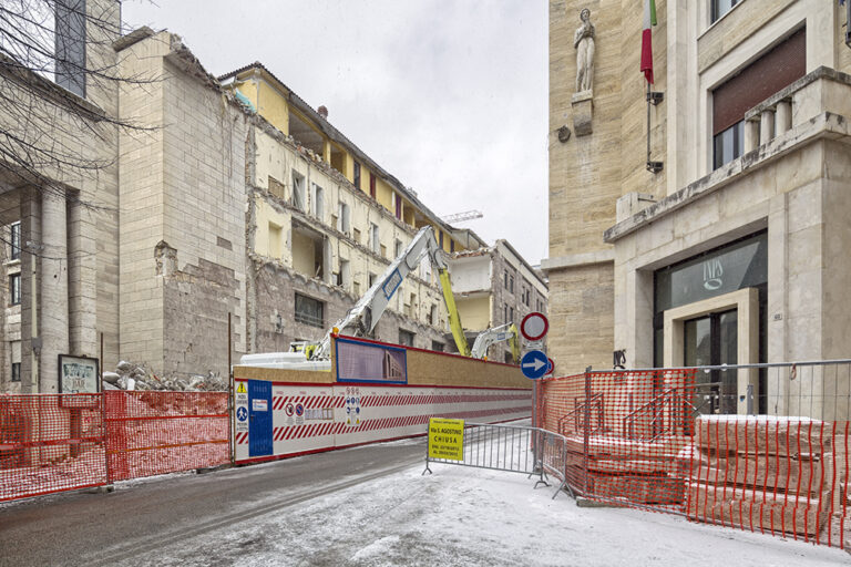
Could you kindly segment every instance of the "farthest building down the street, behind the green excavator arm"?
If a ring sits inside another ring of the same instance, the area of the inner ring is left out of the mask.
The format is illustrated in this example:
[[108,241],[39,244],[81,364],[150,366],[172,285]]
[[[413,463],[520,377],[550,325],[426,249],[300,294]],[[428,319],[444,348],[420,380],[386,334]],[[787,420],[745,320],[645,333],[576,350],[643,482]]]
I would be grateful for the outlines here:
[[[547,287],[543,275],[506,240],[455,252],[452,290],[471,344],[485,329],[505,323],[520,327],[532,311],[546,313]],[[488,358],[511,362],[511,349],[505,342],[493,344]]]

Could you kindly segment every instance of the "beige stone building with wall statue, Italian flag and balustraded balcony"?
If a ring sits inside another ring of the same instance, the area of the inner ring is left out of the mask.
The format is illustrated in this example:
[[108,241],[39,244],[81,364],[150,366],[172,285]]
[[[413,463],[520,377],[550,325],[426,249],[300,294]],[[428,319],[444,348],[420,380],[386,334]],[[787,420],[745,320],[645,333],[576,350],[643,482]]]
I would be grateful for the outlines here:
[[[594,86],[577,95],[571,40],[584,8]],[[849,357],[845,7],[657,1],[656,104],[639,71],[642,9],[550,2],[542,265],[556,363],[611,368],[613,352],[627,368]],[[828,381],[812,392],[847,392]],[[751,373],[725,388],[741,400],[748,384],[760,412],[790,411],[797,386]]]

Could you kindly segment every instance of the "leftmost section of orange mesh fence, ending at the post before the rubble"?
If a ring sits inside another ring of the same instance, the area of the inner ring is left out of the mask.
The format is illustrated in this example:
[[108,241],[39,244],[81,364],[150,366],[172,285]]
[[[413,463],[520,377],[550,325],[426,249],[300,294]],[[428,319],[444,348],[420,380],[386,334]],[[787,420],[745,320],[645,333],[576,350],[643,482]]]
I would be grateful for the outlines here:
[[106,482],[103,396],[0,395],[0,501]]

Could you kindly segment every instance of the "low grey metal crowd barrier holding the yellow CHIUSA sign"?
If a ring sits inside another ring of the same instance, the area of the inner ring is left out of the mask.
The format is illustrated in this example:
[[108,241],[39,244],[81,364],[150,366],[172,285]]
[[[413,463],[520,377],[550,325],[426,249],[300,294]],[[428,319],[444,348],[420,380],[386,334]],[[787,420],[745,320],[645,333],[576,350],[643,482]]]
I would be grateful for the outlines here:
[[566,476],[566,440],[564,435],[527,425],[506,425],[486,423],[464,423],[462,458],[434,458],[426,450],[426,470],[431,474],[431,463],[441,463],[509,473],[522,473],[530,477],[537,476],[535,487],[548,486],[547,475],[561,484],[553,494],[566,488],[573,495],[573,488]]

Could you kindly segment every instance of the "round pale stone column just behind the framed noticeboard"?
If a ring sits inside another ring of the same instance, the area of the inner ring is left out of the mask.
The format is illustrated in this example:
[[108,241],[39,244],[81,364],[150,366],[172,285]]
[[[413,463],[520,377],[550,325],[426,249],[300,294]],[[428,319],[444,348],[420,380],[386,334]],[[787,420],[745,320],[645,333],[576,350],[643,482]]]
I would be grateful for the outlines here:
[[68,217],[64,196],[41,197],[40,391],[59,392],[58,355],[68,353]]

